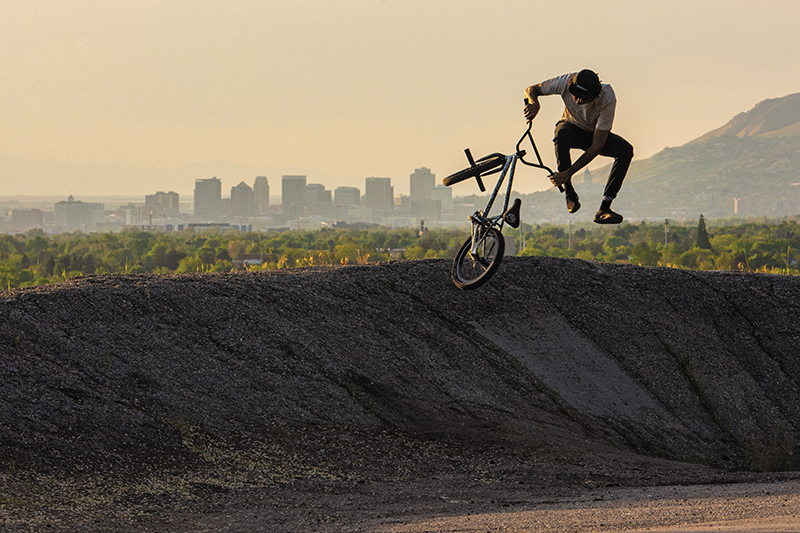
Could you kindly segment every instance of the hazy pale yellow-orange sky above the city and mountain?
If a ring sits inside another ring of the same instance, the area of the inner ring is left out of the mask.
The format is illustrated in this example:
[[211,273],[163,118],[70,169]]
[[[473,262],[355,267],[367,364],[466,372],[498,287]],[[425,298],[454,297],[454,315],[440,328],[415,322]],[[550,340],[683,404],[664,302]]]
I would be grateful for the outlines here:
[[[277,194],[298,173],[408,194],[415,168],[440,182],[466,147],[511,151],[525,87],[581,68],[614,87],[613,131],[645,158],[800,92],[798,21],[796,0],[0,0],[0,196],[258,174]],[[563,106],[542,104],[554,165]]]

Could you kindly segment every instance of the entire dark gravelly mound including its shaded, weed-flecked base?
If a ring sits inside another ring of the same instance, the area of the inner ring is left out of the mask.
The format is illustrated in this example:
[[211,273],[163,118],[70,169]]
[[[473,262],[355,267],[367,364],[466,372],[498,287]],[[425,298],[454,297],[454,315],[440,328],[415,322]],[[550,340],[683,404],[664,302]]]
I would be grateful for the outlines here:
[[553,258],[475,291],[431,260],[5,292],[0,531],[472,531],[709,483],[793,509],[798,296]]

